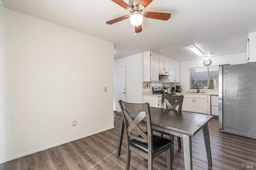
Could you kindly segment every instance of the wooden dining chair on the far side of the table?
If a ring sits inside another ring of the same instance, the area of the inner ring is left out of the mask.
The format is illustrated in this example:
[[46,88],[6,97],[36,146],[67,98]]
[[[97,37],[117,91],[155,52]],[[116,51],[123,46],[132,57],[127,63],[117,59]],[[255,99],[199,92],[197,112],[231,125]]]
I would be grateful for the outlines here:
[[[164,108],[164,103],[169,109],[176,109],[178,107],[178,111],[182,110],[182,103],[183,103],[184,96],[169,96],[162,94],[162,104],[161,107]],[[167,133],[161,132],[161,136],[163,135],[169,135]],[[178,139],[178,147],[181,149],[181,139],[177,136]],[[173,140],[173,138],[172,138]]]

